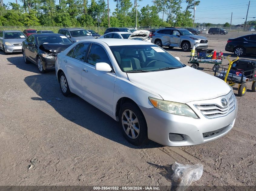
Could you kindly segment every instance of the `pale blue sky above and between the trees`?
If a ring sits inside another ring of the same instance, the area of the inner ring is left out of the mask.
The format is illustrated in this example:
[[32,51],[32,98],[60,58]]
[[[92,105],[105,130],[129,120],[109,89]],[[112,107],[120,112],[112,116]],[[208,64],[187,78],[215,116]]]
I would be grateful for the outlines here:
[[[15,0],[3,0],[4,4],[8,2],[16,2]],[[58,3],[58,0],[56,1]],[[107,0],[106,0],[107,2]],[[134,0],[131,0],[134,3]],[[181,7],[184,10],[186,8],[185,0],[182,0]],[[214,2],[214,4],[213,4]],[[19,4],[22,4],[20,0],[18,0]],[[146,5],[153,5],[151,0],[142,0],[137,1],[139,7],[142,8]],[[90,4],[90,0],[89,0]],[[231,12],[232,15],[232,24],[242,24],[245,22],[246,13],[248,9],[249,1],[247,0],[201,0],[200,4],[196,6],[195,11],[195,23],[213,23],[213,24],[224,24],[225,22],[230,23],[231,21]],[[116,3],[114,0],[109,0],[109,8],[111,11],[114,11]],[[250,7],[248,11],[247,21],[256,19],[256,0],[251,0]],[[193,14],[193,10],[192,11]],[[111,15],[111,13],[110,13]],[[160,18],[162,18],[162,13],[159,14]],[[254,18],[253,18],[254,17]],[[167,19],[167,15],[164,15],[164,20]]]

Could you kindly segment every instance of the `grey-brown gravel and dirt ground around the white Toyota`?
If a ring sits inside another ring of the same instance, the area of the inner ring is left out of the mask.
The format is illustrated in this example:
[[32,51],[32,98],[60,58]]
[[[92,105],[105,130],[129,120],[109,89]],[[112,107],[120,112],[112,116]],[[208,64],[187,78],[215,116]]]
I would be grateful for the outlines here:
[[[225,44],[209,40],[209,48],[224,50]],[[188,62],[190,53],[167,50]],[[213,75],[212,66],[199,69]],[[170,186],[175,161],[204,165],[203,176],[192,185],[256,185],[256,93],[251,83],[247,94],[237,97],[236,123],[224,137],[188,147],[154,142],[135,147],[122,137],[117,122],[78,96],[64,97],[55,72],[39,74],[21,54],[0,52],[0,76],[0,185]],[[35,168],[27,170],[35,159]]]

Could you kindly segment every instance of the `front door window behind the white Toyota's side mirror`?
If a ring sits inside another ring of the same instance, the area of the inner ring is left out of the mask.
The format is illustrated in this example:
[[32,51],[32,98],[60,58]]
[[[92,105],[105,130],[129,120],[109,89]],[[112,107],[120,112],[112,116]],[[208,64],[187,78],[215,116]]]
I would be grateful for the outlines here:
[[106,62],[111,66],[111,62],[105,49],[98,44],[92,43],[87,63],[95,66],[98,62]]

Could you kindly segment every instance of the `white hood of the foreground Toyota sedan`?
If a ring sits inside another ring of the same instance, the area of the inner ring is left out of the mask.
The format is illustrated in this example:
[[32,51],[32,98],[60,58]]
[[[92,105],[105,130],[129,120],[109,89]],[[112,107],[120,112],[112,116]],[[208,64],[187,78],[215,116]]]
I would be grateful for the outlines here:
[[213,99],[230,92],[223,80],[189,66],[127,75],[131,82],[154,91],[164,100],[179,103]]

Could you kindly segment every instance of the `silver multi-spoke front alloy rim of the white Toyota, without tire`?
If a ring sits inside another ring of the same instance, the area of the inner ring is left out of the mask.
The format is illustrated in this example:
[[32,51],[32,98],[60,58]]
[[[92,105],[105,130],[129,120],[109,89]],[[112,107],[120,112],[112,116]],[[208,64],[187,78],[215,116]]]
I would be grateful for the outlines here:
[[122,114],[122,126],[126,135],[132,139],[138,137],[140,125],[137,116],[131,110],[125,110]]

